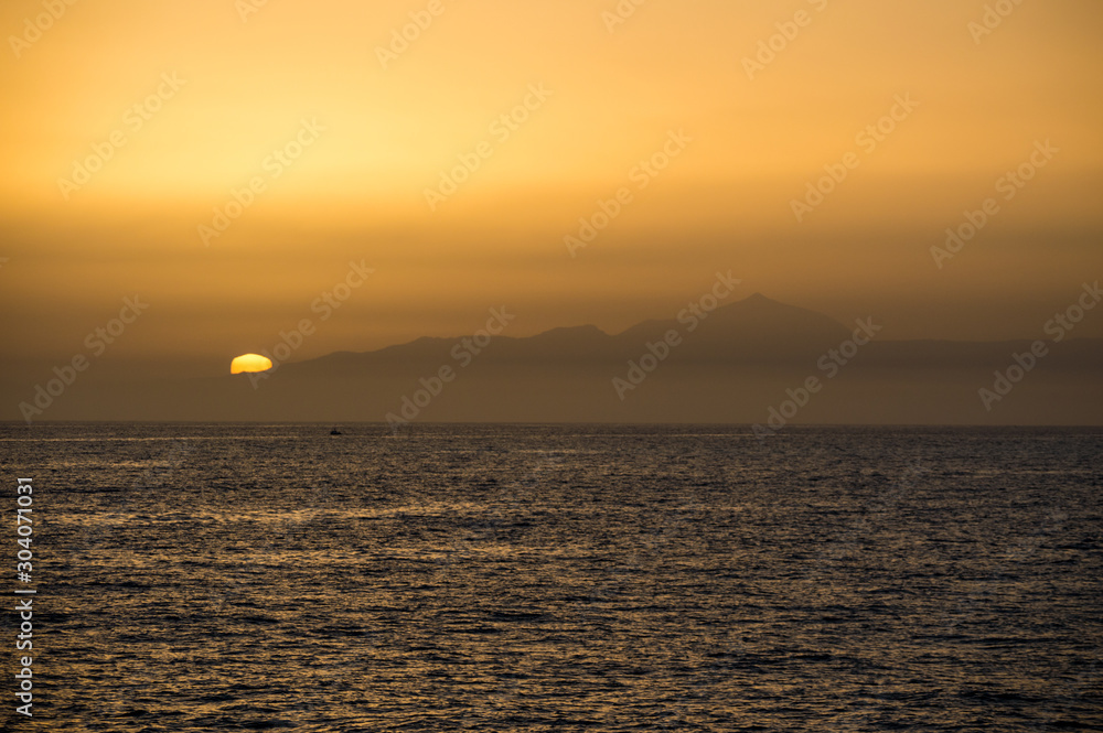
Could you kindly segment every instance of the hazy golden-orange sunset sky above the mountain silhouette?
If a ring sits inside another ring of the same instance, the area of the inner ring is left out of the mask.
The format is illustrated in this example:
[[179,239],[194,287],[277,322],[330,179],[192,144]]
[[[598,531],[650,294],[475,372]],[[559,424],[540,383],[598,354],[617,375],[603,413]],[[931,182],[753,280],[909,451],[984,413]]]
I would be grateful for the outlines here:
[[[1103,269],[1095,0],[1027,0],[990,33],[986,4],[1013,3],[649,0],[618,23],[617,0],[53,4],[0,7],[0,298],[22,358],[83,351],[135,294],[113,358],[228,370],[302,319],[296,358],[470,333],[501,305],[511,335],[618,331],[717,270],[886,337],[1035,337]],[[1030,181],[1002,180],[1021,164]],[[825,165],[846,177],[797,220]],[[375,272],[323,320],[350,261]]]

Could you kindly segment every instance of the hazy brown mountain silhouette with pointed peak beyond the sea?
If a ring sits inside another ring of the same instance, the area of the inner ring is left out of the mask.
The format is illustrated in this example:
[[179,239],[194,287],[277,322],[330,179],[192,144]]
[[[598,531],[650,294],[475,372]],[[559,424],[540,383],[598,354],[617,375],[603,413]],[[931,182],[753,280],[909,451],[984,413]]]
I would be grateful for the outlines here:
[[[882,326],[757,293],[618,334],[580,325],[517,337],[505,328],[482,347],[424,337],[265,375],[101,379],[74,386],[45,419],[764,423],[815,378],[820,389],[793,423],[1100,423],[1103,339],[1049,344],[1009,394],[986,405],[979,390],[1032,342],[892,341]],[[22,399],[25,385],[8,403]]]

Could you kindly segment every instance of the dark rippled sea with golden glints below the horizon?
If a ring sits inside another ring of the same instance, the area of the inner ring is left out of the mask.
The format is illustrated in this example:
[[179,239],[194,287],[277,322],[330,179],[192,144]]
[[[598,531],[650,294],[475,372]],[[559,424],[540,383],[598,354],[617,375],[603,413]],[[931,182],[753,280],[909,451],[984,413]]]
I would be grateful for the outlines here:
[[1103,730],[1101,430],[330,428],[0,427],[0,729]]

